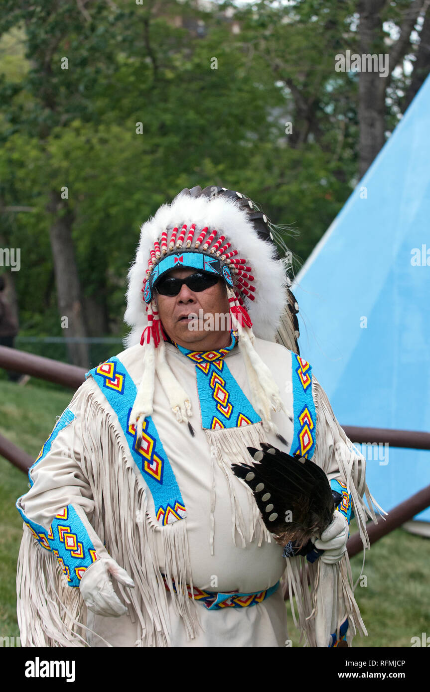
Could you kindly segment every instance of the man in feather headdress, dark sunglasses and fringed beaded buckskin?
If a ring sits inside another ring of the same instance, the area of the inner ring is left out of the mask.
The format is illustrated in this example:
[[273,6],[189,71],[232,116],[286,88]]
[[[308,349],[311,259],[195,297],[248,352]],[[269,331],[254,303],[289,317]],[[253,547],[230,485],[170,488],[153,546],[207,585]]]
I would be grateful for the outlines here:
[[[24,645],[285,646],[284,575],[310,646],[348,623],[349,641],[366,633],[346,554],[351,508],[365,546],[375,518],[364,459],[309,363],[274,343],[291,302],[274,227],[242,194],[211,192],[183,190],[143,225],[128,347],[87,374],[17,501]],[[314,537],[312,599],[305,556],[285,559],[231,469],[265,442],[312,458],[343,495]]]

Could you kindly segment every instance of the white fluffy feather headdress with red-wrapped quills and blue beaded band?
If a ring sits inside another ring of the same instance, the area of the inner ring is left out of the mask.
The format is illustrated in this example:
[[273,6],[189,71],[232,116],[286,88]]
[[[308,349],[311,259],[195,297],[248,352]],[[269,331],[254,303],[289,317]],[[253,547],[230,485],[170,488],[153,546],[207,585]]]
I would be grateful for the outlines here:
[[141,226],[136,260],[128,275],[125,312],[125,321],[132,327],[125,345],[140,341],[145,347],[145,372],[130,418],[138,435],[143,419],[152,413],[154,371],[178,421],[189,423],[192,415],[190,400],[165,360],[163,328],[152,289],[154,277],[166,267],[172,268],[173,262],[196,266],[197,255],[205,257],[207,271],[211,262],[217,262],[217,271],[227,284],[232,326],[239,332],[253,405],[265,429],[276,432],[270,412],[281,410],[283,403],[269,368],[253,348],[254,335],[287,340],[285,345],[298,352],[298,306],[272,230],[266,215],[248,197],[213,187],[182,190]]

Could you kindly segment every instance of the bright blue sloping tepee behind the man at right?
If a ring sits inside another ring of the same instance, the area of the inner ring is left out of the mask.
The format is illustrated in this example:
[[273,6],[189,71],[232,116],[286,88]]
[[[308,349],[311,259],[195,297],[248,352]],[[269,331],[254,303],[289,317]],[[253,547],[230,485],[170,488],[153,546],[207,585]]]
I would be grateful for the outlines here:
[[[430,430],[429,114],[430,77],[293,284],[301,354],[343,425]],[[430,483],[430,451],[362,451],[386,510]]]

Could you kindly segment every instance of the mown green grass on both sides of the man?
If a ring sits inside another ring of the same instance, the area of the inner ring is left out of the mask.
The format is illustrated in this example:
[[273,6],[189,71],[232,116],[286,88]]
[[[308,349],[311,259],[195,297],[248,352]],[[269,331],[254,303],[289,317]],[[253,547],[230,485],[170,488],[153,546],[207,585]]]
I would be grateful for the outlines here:
[[[71,390],[43,388],[40,382],[25,387],[0,381],[0,434],[35,459],[51,434],[55,417],[69,404]],[[0,636],[19,635],[16,616],[16,565],[22,520],[15,500],[26,493],[28,478],[0,457]],[[377,497],[377,489],[372,489]],[[356,530],[352,522],[351,533]],[[355,581],[363,556],[352,558]],[[397,529],[368,551],[364,574],[367,586],[357,585],[355,598],[368,637],[355,637],[354,646],[410,647],[411,637],[430,635],[428,575],[429,540]],[[298,646],[299,635],[287,604],[289,638]]]

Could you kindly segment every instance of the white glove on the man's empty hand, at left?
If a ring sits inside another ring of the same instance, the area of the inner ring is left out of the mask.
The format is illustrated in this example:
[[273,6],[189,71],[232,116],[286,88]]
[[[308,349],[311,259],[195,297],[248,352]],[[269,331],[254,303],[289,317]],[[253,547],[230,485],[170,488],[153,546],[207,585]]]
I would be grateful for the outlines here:
[[120,617],[127,608],[114,592],[110,574],[121,584],[134,587],[132,578],[112,558],[98,558],[85,570],[79,588],[89,610],[105,617]]

